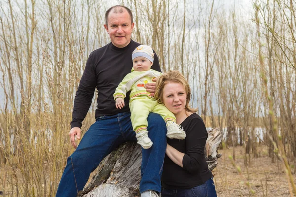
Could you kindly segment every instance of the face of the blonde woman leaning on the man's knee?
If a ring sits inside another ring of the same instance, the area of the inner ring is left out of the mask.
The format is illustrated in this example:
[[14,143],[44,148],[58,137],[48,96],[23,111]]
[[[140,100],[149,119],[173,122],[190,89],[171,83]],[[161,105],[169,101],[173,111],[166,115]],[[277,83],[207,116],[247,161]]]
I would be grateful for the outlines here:
[[174,115],[185,112],[187,94],[181,83],[169,82],[163,88],[163,104]]

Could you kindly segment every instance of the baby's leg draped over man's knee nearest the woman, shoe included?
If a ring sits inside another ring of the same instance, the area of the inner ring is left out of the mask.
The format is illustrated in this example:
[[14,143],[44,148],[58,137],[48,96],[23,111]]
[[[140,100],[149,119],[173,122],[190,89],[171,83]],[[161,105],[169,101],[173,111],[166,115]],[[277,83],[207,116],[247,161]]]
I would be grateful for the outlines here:
[[157,103],[153,109],[154,113],[161,115],[167,126],[167,137],[170,139],[185,139],[186,133],[176,123],[174,114],[169,111],[163,104]]

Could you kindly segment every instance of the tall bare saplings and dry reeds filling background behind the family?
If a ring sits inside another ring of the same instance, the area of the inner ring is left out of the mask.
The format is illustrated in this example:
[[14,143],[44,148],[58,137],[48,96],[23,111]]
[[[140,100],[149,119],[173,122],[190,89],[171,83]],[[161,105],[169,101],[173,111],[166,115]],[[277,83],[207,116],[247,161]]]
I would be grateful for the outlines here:
[[[238,4],[224,9],[214,0],[124,1],[136,22],[132,38],[153,46],[163,71],[183,72],[207,127],[225,131],[226,147],[248,143],[246,165],[258,156],[259,143],[268,144],[295,190],[289,163],[296,158],[296,3],[256,3],[243,13]],[[4,195],[55,195],[74,151],[69,123],[84,65],[91,51],[110,42],[103,28],[110,6],[103,0],[1,2]],[[83,132],[94,122],[95,107]]]

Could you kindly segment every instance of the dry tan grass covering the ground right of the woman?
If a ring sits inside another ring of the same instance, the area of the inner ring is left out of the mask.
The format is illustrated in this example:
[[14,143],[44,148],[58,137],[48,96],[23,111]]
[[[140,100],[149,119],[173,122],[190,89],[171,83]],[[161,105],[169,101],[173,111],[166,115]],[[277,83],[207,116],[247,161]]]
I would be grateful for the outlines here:
[[[219,151],[222,153],[222,157],[219,159],[217,168],[213,171],[218,197],[290,197],[288,179],[280,161],[271,163],[266,146],[259,146],[258,150],[259,157],[253,158],[252,166],[247,169],[244,166],[244,148],[235,147],[235,164],[240,166],[243,177],[239,175],[228,158],[229,155],[232,155],[232,147]],[[247,181],[255,192],[253,195],[244,183]]]

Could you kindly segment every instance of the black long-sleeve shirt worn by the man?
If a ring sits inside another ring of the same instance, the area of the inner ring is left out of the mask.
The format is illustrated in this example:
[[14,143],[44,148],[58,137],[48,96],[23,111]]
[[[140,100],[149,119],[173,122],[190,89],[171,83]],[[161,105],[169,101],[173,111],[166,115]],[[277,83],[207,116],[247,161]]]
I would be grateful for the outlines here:
[[[125,75],[131,72],[133,67],[132,52],[139,45],[131,40],[126,47],[118,48],[110,42],[89,55],[74,100],[71,128],[82,126],[95,88],[98,90],[95,118],[130,110],[127,104],[129,103],[129,93],[124,99],[126,104],[123,109],[116,109],[113,94]],[[151,69],[161,71],[156,54]]]

